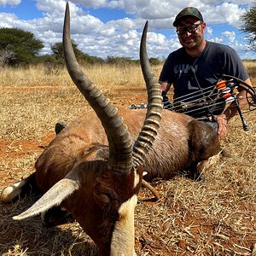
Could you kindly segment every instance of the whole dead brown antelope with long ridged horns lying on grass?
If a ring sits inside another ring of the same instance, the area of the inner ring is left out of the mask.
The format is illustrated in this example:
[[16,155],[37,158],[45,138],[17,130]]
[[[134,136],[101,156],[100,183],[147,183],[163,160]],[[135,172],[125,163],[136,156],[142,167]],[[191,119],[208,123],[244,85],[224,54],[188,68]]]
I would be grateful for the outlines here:
[[133,212],[143,171],[148,172],[147,180],[168,179],[184,170],[200,177],[205,161],[220,151],[218,135],[210,125],[182,113],[163,110],[160,120],[160,85],[145,49],[147,26],[140,59],[148,109],[119,108],[118,113],[82,72],[69,33],[67,4],[63,32],[67,69],[94,111],[61,131],[39,156],[36,172],[3,189],[0,200],[13,201],[26,189],[38,188],[42,198],[15,219],[61,205],[96,242],[100,254],[132,255]]

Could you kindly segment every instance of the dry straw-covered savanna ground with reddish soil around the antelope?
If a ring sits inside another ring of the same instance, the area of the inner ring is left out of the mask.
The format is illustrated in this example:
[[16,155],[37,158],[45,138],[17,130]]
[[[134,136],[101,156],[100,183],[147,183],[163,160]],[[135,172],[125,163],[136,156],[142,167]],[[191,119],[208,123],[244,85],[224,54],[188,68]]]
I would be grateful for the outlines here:
[[[254,62],[246,62],[256,83]],[[139,67],[87,67],[116,105],[146,102]],[[160,67],[154,67],[158,76]],[[58,121],[71,124],[89,108],[65,69],[44,67],[0,71],[0,191],[33,172],[38,155],[55,137]],[[141,189],[135,212],[138,255],[256,255],[256,112],[230,121],[222,141],[231,157],[207,167],[205,182],[183,175],[154,180],[160,201]],[[172,120],[170,120],[172,122]],[[96,247],[79,224],[46,228],[40,217],[14,222],[12,216],[30,207],[31,197],[0,204],[0,254],[96,255]]]

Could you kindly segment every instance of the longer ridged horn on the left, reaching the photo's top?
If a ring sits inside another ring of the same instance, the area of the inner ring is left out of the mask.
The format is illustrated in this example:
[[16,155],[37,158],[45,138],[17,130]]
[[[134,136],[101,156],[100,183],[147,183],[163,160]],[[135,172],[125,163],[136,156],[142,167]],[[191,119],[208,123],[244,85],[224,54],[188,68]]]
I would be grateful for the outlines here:
[[108,167],[114,172],[130,172],[132,160],[132,141],[123,119],[117,113],[117,108],[109,102],[102,91],[86,77],[73,52],[70,38],[69,4],[63,27],[63,52],[67,71],[77,85],[84,98],[90,103],[108,137],[109,160]]

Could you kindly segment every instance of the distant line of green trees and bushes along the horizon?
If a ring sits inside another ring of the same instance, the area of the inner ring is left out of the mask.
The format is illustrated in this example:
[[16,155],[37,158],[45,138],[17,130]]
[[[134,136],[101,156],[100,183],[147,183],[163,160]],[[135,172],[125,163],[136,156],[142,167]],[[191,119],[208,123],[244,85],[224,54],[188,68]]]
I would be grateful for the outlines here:
[[[130,57],[108,56],[105,60],[100,57],[83,53],[78,45],[72,41],[74,53],[80,64],[111,64],[125,66],[138,64],[139,60],[132,60]],[[32,32],[26,32],[18,28],[0,28],[0,67],[20,67],[31,64],[45,64],[48,67],[64,66],[62,43],[55,43],[51,46],[49,55],[39,55],[44,44],[35,38]],[[158,58],[150,58],[152,65],[159,64]]]

